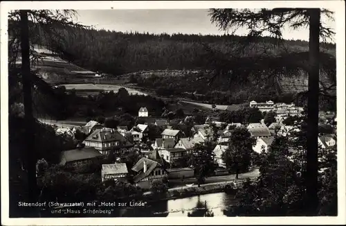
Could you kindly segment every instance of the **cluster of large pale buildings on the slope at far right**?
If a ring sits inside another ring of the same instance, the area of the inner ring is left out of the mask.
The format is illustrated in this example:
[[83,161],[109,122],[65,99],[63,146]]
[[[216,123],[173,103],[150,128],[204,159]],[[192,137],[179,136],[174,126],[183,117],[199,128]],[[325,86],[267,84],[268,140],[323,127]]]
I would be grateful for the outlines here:
[[266,101],[266,103],[257,103],[256,101],[250,102],[250,107],[257,107],[261,112],[273,111],[277,116],[297,116],[302,111],[300,107],[296,107],[293,103],[273,103],[273,101]]

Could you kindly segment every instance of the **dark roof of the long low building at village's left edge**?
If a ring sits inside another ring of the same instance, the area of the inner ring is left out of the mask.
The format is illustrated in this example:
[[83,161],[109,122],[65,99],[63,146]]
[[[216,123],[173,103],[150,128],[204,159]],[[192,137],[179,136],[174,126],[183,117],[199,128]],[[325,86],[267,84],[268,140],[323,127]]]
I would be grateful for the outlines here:
[[100,156],[102,156],[101,153],[99,153],[98,150],[93,147],[65,150],[62,152],[60,164],[64,165],[66,162],[93,159]]

